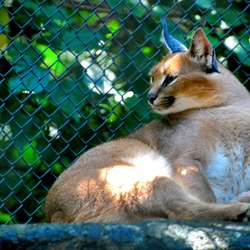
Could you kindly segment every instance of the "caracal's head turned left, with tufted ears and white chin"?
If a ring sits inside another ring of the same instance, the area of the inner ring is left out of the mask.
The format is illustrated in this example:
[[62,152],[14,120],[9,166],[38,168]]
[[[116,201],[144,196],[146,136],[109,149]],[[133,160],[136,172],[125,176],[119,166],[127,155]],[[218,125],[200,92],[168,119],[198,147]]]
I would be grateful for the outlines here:
[[213,47],[202,28],[196,30],[187,49],[170,35],[165,21],[163,25],[169,54],[149,73],[150,106],[166,115],[218,105],[220,97],[215,79],[220,72]]

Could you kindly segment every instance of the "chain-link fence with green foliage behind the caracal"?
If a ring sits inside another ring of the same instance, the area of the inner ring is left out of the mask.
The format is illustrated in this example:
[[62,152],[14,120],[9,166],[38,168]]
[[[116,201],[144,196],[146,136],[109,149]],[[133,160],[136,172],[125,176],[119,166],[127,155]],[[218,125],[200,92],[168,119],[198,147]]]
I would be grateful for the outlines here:
[[249,87],[247,1],[6,0],[0,4],[0,223],[43,222],[57,176],[152,119],[159,20],[188,46],[206,16],[217,58]]

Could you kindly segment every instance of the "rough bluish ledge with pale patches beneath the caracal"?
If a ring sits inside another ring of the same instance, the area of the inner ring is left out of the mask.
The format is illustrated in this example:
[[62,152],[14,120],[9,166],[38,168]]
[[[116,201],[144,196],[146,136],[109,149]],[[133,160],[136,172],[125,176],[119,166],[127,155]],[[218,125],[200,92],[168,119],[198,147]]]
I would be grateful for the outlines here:
[[1,225],[0,249],[250,249],[250,224],[146,221]]

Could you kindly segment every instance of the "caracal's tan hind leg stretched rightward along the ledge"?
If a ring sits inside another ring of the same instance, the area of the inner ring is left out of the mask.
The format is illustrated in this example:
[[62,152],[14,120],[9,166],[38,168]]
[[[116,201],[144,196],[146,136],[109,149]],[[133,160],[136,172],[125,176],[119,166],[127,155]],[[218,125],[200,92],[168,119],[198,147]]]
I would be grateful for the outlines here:
[[175,181],[158,177],[152,182],[151,195],[133,211],[148,216],[180,220],[241,220],[247,217],[250,205],[244,203],[204,203],[192,197]]

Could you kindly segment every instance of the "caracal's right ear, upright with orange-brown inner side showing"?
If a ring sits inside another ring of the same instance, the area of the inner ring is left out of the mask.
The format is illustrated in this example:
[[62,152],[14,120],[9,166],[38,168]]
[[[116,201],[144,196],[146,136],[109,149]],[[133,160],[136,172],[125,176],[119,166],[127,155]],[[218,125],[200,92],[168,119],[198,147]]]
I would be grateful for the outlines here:
[[219,72],[215,51],[202,28],[195,31],[189,53],[206,65],[207,73]]

